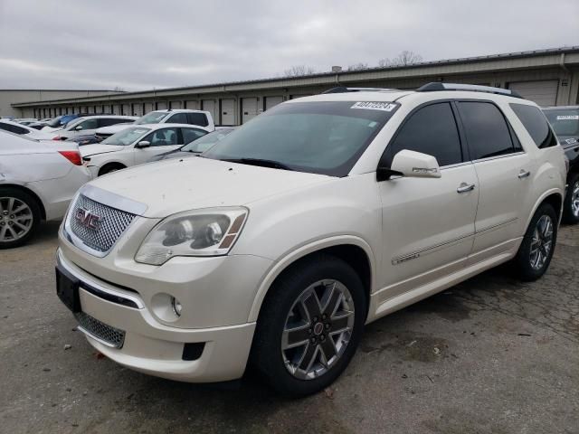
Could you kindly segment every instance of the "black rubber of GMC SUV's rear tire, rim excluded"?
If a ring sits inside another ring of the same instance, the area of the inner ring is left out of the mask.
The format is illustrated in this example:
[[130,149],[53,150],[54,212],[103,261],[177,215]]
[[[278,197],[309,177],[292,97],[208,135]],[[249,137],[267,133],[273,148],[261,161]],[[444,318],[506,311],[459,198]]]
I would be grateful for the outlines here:
[[[549,256],[546,259],[545,264],[543,264],[543,267],[541,267],[540,269],[533,269],[529,261],[531,243],[533,241],[533,233],[535,232],[536,222],[538,222],[543,215],[548,215],[553,222],[553,241],[551,250],[549,251]],[[522,278],[523,280],[528,281],[536,280],[537,278],[542,277],[546,273],[546,270],[549,268],[549,264],[551,263],[551,259],[553,259],[553,254],[555,253],[558,222],[559,219],[556,215],[555,209],[550,204],[543,203],[536,210],[535,214],[533,215],[533,218],[531,219],[531,222],[528,225],[527,232],[525,233],[523,241],[521,242],[521,245],[517,252],[516,258],[517,271],[519,277]]]

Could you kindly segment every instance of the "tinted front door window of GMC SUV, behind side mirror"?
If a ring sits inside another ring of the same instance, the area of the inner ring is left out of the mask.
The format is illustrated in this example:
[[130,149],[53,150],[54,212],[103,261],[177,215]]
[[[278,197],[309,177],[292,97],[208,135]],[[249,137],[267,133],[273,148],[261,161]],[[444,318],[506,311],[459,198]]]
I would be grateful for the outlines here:
[[459,131],[451,104],[432,104],[414,112],[386,149],[384,165],[392,165],[394,156],[408,149],[435,156],[439,165],[462,162]]

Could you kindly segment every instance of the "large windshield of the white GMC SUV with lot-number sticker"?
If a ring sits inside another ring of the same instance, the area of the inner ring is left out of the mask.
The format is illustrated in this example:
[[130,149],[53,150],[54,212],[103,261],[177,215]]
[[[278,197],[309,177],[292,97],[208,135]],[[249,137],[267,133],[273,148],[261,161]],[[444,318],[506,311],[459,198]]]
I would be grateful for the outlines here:
[[398,107],[365,101],[280,104],[224,137],[203,156],[269,160],[289,170],[346,176]]

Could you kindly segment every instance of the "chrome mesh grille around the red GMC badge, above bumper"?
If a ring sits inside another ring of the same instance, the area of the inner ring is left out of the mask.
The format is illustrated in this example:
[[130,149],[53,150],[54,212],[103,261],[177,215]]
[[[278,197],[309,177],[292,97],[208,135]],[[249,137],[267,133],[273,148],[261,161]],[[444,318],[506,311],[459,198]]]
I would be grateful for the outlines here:
[[[95,216],[95,220],[89,222],[82,218],[84,215]],[[69,212],[68,223],[71,232],[90,249],[106,253],[134,218],[135,214],[95,202],[80,194]]]

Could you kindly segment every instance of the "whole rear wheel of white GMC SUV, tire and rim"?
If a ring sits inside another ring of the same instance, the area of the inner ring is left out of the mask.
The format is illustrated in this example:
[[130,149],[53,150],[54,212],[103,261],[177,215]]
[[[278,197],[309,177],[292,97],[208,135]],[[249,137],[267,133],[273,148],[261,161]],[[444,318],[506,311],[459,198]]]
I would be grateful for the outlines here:
[[517,277],[525,281],[542,277],[549,268],[557,240],[558,217],[548,203],[541,204],[533,215],[513,260]]

